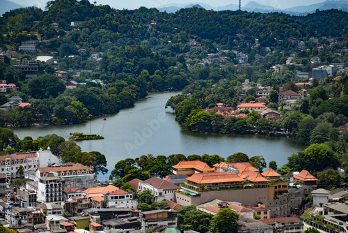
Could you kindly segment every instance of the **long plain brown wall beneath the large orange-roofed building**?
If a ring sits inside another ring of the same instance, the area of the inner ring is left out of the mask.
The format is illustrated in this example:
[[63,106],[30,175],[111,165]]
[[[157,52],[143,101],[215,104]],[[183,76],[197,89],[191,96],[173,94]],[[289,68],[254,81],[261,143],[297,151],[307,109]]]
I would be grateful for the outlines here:
[[202,204],[205,202],[210,202],[214,199],[255,205],[258,202],[266,204],[267,193],[267,188],[246,188],[239,190],[198,192],[198,194],[200,194],[200,197],[188,197],[180,193],[175,193],[175,198],[177,204],[181,204],[182,206],[188,206],[190,204]]

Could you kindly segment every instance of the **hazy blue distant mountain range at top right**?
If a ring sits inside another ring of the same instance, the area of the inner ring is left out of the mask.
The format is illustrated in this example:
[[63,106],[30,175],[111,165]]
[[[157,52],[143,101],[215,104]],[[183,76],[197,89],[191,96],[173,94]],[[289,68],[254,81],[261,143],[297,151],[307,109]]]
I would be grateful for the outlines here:
[[[175,13],[181,8],[191,8],[193,6],[198,6],[200,8],[205,8],[206,10],[238,10],[239,5],[228,4],[226,6],[209,6],[206,3],[187,3],[187,4],[170,4],[166,6],[161,6],[158,8],[159,11],[166,11],[167,13]],[[323,1],[322,3],[316,3],[308,6],[295,6],[292,8],[279,9],[273,6],[262,5],[255,1],[249,1],[242,10],[249,12],[260,12],[260,13],[271,13],[271,12],[281,12],[290,15],[307,15],[308,13],[313,13],[315,10],[330,10],[338,9],[348,11],[348,1],[338,0],[338,1]]]

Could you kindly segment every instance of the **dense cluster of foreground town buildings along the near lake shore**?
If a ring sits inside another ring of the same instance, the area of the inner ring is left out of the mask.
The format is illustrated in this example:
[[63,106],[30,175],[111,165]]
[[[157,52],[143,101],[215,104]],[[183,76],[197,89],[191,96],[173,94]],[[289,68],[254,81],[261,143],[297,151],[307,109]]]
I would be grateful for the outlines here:
[[[21,176],[21,166],[25,183],[5,188],[6,177]],[[347,192],[317,190],[317,179],[306,170],[281,176],[271,168],[260,172],[250,163],[209,167],[201,161],[181,161],[165,179],[127,182],[130,191],[98,183],[92,167],[61,164],[49,149],[0,156],[0,170],[0,213],[5,217],[0,223],[17,232],[180,232],[177,209],[195,204],[198,211],[212,215],[221,208],[239,213],[238,232],[300,233],[303,223],[294,214],[310,193],[319,208],[315,213],[347,216],[345,204],[337,203]],[[167,202],[169,209],[139,211],[136,195],[145,190],[155,202]]]

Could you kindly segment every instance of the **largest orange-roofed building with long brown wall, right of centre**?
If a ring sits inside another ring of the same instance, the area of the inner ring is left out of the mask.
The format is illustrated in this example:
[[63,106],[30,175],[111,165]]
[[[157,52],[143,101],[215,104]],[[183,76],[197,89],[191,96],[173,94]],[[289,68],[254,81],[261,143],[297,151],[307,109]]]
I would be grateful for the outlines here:
[[201,204],[215,198],[230,202],[254,205],[265,202],[268,195],[268,180],[251,170],[235,174],[213,172],[193,174],[187,184],[175,193],[176,202],[183,206]]

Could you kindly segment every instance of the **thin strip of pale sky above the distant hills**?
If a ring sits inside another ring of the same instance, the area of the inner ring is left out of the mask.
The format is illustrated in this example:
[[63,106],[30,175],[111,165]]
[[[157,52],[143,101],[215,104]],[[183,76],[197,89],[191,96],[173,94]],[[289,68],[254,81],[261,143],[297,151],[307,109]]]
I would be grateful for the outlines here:
[[[38,6],[40,8],[45,8],[47,1],[46,0],[10,0],[15,3],[18,3],[22,6]],[[97,4],[108,4],[112,8],[127,8],[134,9],[139,8],[140,6],[150,7],[161,7],[170,5],[172,3],[207,3],[210,6],[226,6],[230,3],[239,4],[239,0],[130,0],[130,1],[120,1],[120,0],[90,0],[91,3],[97,1]],[[246,5],[250,0],[242,0],[242,6]],[[275,8],[290,8],[292,6],[303,6],[311,5],[314,3],[320,3],[325,0],[254,0],[257,3],[267,6],[273,6]]]

